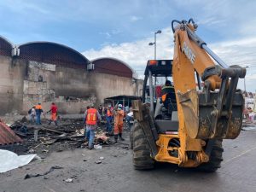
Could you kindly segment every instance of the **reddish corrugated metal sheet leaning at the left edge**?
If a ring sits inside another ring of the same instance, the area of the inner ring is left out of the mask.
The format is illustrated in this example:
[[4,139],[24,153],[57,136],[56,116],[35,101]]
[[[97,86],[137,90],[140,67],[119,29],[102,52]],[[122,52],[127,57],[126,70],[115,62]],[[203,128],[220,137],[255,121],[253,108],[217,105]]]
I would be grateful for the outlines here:
[[22,140],[20,137],[15,135],[15,132],[0,120],[0,145],[8,145],[21,142]]

